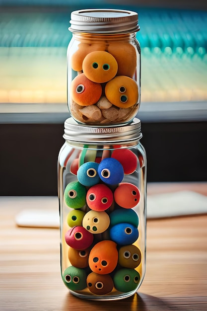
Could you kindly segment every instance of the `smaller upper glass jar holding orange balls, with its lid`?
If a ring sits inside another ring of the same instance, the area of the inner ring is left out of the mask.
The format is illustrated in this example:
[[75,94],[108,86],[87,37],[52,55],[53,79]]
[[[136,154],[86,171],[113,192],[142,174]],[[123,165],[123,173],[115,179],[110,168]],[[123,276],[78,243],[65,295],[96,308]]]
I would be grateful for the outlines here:
[[68,107],[78,122],[126,124],[140,104],[138,13],[82,9],[71,13]]

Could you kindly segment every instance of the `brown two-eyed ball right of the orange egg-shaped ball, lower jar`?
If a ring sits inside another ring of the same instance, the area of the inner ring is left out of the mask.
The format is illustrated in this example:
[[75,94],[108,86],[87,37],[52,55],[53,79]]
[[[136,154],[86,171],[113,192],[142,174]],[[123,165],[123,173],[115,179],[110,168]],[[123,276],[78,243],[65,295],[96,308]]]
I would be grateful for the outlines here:
[[119,264],[122,267],[135,269],[141,262],[141,252],[136,245],[124,245],[119,249]]

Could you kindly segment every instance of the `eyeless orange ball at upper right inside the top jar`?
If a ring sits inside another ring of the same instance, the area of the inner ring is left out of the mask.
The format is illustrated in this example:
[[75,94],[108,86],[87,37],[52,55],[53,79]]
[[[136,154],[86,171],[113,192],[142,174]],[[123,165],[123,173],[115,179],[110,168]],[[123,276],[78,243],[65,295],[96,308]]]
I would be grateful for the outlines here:
[[117,76],[133,78],[137,67],[137,54],[134,46],[128,42],[110,44],[108,52],[114,56],[118,63]]

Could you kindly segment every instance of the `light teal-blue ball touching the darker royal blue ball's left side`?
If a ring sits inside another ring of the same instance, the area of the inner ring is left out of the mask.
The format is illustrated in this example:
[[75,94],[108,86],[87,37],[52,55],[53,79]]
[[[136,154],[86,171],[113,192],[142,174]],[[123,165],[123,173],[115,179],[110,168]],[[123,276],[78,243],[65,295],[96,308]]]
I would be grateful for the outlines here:
[[85,162],[77,170],[78,181],[87,187],[91,187],[100,181],[98,175],[98,163]]

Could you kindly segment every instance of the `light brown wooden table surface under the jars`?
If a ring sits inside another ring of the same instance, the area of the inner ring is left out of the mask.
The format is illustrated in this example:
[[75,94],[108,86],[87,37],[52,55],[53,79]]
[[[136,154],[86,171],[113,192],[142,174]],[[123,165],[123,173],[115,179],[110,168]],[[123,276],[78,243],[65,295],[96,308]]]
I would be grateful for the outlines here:
[[[207,183],[148,184],[148,195]],[[28,207],[29,208],[29,207]],[[207,215],[147,221],[146,274],[138,293],[112,302],[69,294],[60,272],[58,229],[20,228],[21,206],[0,206],[1,311],[207,311]]]

